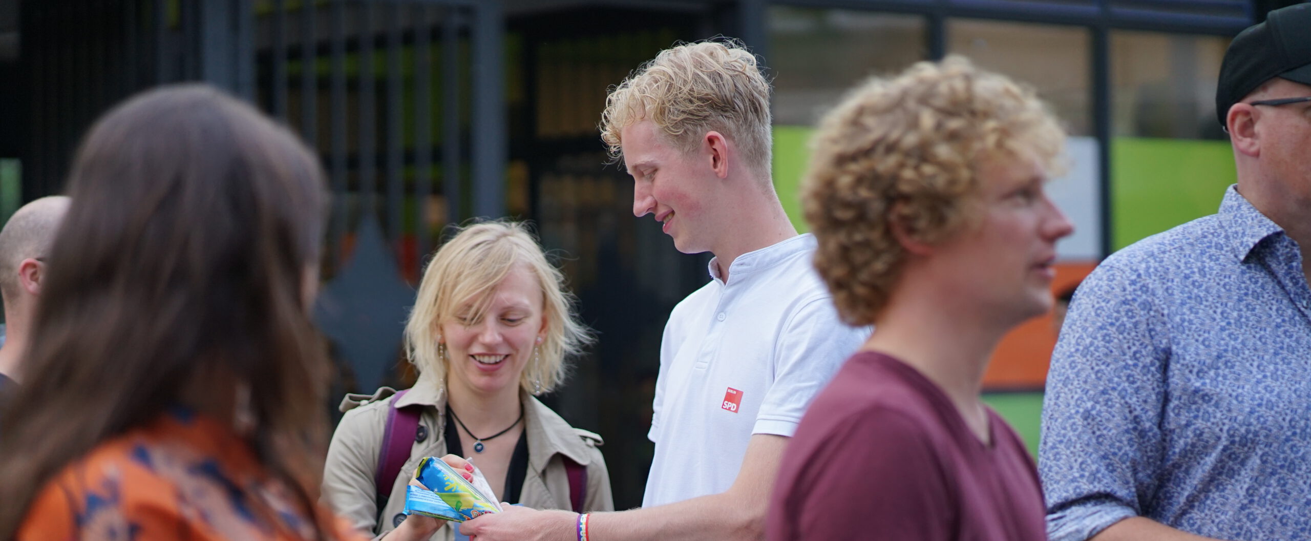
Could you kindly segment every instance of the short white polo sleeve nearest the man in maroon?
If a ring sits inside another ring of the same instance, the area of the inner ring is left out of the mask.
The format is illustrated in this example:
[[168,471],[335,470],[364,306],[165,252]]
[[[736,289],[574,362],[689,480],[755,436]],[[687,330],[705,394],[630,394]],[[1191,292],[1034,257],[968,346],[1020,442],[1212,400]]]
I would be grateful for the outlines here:
[[869,327],[843,323],[829,295],[802,303],[776,337],[773,382],[751,433],[791,437],[810,400],[829,385],[829,379],[869,337]]

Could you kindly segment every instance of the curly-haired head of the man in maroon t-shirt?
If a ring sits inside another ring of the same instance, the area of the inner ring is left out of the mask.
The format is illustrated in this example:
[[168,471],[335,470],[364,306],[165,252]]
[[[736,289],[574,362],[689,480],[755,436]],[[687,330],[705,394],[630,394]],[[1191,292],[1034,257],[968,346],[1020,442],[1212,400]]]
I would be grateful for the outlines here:
[[877,324],[910,276],[1007,324],[1049,310],[1072,231],[1044,193],[1063,144],[1030,89],[962,58],[856,88],[821,122],[802,188],[843,319]]

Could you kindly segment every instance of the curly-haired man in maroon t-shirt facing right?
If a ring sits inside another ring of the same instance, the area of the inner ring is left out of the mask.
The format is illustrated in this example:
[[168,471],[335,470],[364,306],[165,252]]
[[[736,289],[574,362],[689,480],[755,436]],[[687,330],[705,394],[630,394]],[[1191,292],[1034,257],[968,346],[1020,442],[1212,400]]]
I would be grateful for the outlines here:
[[874,79],[815,134],[815,268],[874,334],[784,454],[770,540],[1046,540],[1042,488],[979,399],[998,340],[1051,309],[1044,193],[1065,135],[1033,92],[968,60]]

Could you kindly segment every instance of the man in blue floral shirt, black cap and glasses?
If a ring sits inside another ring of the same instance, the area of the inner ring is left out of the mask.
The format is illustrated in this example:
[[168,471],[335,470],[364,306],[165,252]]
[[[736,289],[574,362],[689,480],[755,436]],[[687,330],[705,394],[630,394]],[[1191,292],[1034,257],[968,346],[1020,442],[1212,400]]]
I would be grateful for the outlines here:
[[1053,541],[1311,538],[1311,4],[1224,55],[1238,184],[1108,257],[1051,357]]

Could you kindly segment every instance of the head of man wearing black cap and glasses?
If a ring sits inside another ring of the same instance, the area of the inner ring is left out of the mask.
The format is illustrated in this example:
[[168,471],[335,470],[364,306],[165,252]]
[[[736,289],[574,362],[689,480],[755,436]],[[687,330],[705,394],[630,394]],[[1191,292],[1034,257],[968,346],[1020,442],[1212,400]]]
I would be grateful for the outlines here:
[[[1239,189],[1261,183],[1311,201],[1311,4],[1269,13],[1224,53],[1217,116],[1234,142]],[[1244,192],[1245,193],[1245,192]]]

